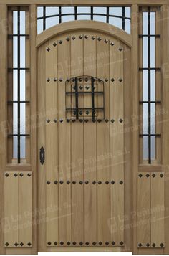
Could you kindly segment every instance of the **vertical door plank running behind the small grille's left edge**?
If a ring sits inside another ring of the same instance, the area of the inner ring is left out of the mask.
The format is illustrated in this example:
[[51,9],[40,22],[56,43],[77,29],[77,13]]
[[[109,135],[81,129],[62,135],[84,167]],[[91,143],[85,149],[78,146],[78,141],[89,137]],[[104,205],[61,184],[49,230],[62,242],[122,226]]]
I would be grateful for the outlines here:
[[[65,121],[65,80],[70,75],[70,41],[61,38],[58,43],[58,79],[62,82],[58,85],[58,114],[59,114],[59,242],[71,241],[71,186],[67,184],[70,177],[70,149],[71,134],[70,123]],[[60,41],[61,42],[61,41]],[[63,120],[63,122],[60,122]],[[61,244],[62,245],[62,244]]]

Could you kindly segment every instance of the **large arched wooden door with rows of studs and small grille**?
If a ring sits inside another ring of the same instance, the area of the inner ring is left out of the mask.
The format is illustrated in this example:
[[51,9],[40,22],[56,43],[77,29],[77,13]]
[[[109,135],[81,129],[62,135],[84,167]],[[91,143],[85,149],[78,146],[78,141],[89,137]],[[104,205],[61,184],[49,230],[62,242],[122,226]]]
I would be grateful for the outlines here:
[[100,22],[74,29],[77,23],[38,49],[39,250],[121,250],[130,47],[125,32],[120,38],[113,28],[102,32]]

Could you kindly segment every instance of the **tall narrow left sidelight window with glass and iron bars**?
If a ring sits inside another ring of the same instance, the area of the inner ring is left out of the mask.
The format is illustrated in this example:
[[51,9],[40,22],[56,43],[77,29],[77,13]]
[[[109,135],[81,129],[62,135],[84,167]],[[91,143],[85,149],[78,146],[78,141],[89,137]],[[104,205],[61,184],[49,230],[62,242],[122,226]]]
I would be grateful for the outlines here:
[[[29,9],[9,8],[8,24],[8,163],[26,162],[29,119]],[[27,157],[28,158],[28,157]],[[27,159],[28,160],[28,159]]]

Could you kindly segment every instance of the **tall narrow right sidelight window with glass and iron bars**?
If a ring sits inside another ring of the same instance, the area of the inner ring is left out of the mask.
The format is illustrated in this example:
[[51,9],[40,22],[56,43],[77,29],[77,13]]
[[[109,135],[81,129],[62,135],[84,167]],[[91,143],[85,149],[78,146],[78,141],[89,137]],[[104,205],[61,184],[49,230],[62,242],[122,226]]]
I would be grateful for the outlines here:
[[[143,52],[140,70],[140,111],[143,115],[140,131],[141,151],[143,151],[142,163],[153,163],[160,157],[159,139],[160,133],[160,58],[157,55],[157,47],[160,44],[160,28],[157,23],[158,9],[148,7],[141,9],[142,33],[140,38],[140,50]],[[160,49],[160,48],[159,48]]]

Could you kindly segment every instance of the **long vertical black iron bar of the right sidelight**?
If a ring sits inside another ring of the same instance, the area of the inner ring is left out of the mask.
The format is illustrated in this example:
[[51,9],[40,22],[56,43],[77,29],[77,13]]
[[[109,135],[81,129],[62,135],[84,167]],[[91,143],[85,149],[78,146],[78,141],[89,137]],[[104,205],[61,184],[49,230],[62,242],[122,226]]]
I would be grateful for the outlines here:
[[[150,7],[148,7],[148,34],[150,34]],[[151,163],[151,41],[148,37],[148,163]]]

